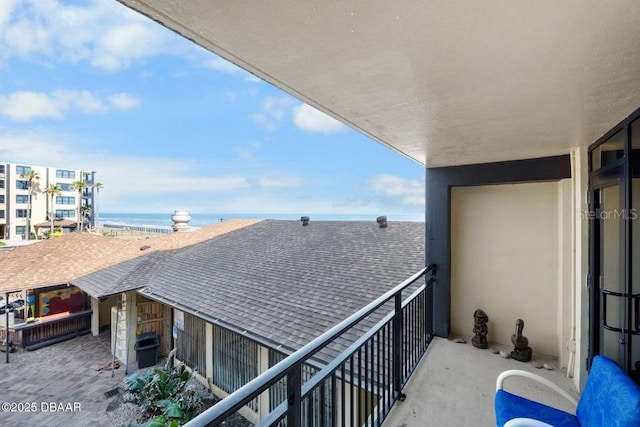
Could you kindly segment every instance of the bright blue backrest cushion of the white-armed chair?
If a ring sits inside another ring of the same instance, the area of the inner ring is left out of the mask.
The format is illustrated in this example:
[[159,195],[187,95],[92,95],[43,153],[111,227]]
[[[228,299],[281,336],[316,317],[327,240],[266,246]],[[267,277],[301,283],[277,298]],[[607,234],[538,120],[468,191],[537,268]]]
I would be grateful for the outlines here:
[[611,359],[593,359],[576,416],[583,427],[640,426],[640,387]]

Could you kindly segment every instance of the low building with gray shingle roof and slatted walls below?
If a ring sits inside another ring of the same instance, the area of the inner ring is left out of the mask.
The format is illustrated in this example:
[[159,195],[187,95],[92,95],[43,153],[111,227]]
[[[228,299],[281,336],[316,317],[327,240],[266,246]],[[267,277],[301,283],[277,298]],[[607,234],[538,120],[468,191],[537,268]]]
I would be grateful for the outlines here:
[[[176,358],[195,371],[196,378],[215,395],[225,398],[388,292],[424,262],[424,223],[390,221],[387,227],[373,220],[304,224],[263,220],[197,244],[157,250],[68,283],[89,295],[92,332],[97,335],[111,328],[112,346],[120,361],[129,365],[136,360],[136,338],[156,333],[158,356],[175,348]],[[180,239],[180,234],[197,237],[204,231],[161,236],[156,242]],[[149,244],[159,249],[156,242]],[[405,310],[411,312],[407,327],[426,324],[420,314],[424,312],[424,289],[415,284],[402,296]],[[416,301],[409,301],[414,298]],[[382,306],[362,319],[358,331],[378,324],[389,309],[389,305]],[[117,339],[115,330],[128,331],[128,344],[118,347],[123,339]],[[390,331],[384,336],[390,340]],[[411,337],[414,344],[420,341],[417,334]],[[339,342],[318,351],[302,367],[305,381],[357,339],[358,332],[346,331]],[[312,403],[303,410],[312,420],[310,426],[336,425],[327,423],[336,407],[332,405],[342,405],[349,417],[357,417],[358,425],[364,424],[372,415],[372,402],[389,395],[381,378],[373,381],[378,373],[380,377],[390,373],[383,367],[383,361],[391,359],[383,354],[383,349],[390,348],[387,344],[381,333],[375,351],[371,344],[366,355],[354,356],[334,377],[335,396],[328,384],[312,393]],[[361,375],[353,379],[363,363],[368,363],[366,369],[372,373],[368,382]],[[387,380],[386,386],[390,384]],[[286,397],[282,380],[248,402],[241,413],[257,423]],[[368,403],[363,404],[365,401]]]

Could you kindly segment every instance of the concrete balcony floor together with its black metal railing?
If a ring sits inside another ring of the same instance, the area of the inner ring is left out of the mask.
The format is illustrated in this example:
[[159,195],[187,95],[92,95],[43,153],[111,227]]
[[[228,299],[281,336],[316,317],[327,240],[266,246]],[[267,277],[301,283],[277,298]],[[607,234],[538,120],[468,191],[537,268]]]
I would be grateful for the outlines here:
[[[188,425],[224,425],[237,412],[258,414],[264,406],[264,426],[495,425],[496,379],[509,369],[536,373],[579,397],[557,358],[534,353],[522,362],[504,357],[513,346],[479,349],[471,336],[460,342],[428,333],[436,270],[416,273]],[[345,346],[354,330],[359,338]],[[327,359],[336,344],[346,348]],[[575,412],[536,383],[512,381],[509,391]]]

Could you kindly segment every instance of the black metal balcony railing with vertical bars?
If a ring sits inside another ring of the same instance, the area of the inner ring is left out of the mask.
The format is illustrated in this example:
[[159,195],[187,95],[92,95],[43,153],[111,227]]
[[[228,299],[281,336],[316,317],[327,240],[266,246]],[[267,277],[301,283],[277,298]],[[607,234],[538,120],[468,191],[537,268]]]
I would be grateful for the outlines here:
[[[186,425],[222,425],[279,384],[286,388],[278,393],[283,401],[271,402],[271,411],[259,426],[379,426],[393,404],[404,399],[402,388],[431,340],[428,310],[436,270],[435,264],[421,269]],[[431,273],[428,279],[427,273]],[[411,291],[404,300],[403,291]],[[377,321],[363,329],[364,319]],[[351,336],[362,332],[346,350],[309,375],[308,367],[318,366],[314,355],[344,339],[348,331]]]

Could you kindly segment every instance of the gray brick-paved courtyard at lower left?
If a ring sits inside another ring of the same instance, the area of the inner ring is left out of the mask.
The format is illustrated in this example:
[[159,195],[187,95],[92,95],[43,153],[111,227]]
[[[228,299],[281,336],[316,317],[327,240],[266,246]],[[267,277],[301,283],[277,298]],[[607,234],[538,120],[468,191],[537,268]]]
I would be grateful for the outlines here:
[[[1,426],[112,426],[107,407],[124,369],[111,361],[109,335],[84,335],[35,351],[0,352]],[[129,372],[131,373],[131,372]]]

